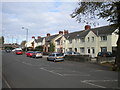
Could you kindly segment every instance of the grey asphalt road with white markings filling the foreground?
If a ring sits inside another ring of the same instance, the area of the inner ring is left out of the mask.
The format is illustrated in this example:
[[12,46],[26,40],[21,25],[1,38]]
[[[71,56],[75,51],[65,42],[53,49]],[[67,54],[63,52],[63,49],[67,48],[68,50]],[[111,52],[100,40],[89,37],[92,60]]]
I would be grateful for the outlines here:
[[2,56],[3,88],[118,88],[118,73],[97,64]]

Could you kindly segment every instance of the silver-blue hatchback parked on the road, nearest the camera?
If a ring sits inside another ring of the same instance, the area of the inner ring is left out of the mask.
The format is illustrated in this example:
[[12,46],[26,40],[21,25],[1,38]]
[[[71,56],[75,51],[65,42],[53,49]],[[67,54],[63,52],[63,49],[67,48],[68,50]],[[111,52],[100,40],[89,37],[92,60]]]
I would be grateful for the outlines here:
[[63,53],[51,53],[48,57],[47,57],[48,61],[64,61],[64,55]]

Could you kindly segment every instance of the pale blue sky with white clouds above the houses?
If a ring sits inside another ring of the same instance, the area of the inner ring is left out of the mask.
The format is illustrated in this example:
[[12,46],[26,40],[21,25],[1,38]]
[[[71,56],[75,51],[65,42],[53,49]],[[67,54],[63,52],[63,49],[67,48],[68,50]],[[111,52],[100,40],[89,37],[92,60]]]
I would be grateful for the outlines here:
[[[78,6],[76,2],[53,0],[51,2],[1,2],[0,22],[5,43],[21,43],[32,36],[45,37],[47,33],[58,34],[59,31],[69,32],[84,30],[85,23],[77,23],[70,14]],[[99,25],[91,28],[109,25],[106,20],[96,20]],[[22,29],[24,27],[24,29]]]

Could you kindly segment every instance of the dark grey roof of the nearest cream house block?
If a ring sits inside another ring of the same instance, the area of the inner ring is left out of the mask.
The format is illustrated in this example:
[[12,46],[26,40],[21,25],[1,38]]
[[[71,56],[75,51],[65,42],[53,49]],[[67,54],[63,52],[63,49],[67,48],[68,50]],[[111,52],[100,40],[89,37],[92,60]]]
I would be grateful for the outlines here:
[[81,30],[77,32],[72,32],[72,33],[64,35],[64,37],[68,40],[75,39],[75,38],[82,38],[82,37],[85,37],[90,31],[93,31],[93,33],[95,33],[97,36],[109,35],[109,34],[112,34],[116,29],[117,27],[113,24],[109,26],[93,28],[90,30]]

